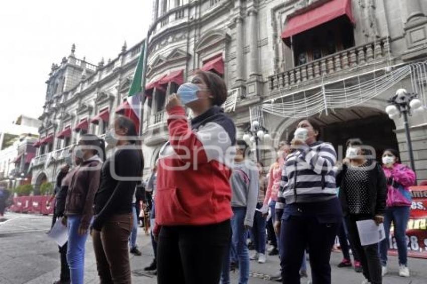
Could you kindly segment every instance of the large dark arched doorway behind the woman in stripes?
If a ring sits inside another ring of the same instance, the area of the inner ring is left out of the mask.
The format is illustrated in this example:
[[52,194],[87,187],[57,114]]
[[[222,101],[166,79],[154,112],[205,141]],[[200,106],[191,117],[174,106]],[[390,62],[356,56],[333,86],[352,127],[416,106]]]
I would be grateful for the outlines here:
[[[339,155],[345,150],[349,138],[360,138],[363,143],[375,149],[377,159],[387,148],[398,150],[394,121],[384,112],[370,107],[352,107],[329,110],[328,115],[310,117],[322,127],[320,139],[334,145]],[[294,121],[285,131],[281,139],[291,140],[298,120]],[[287,137],[286,137],[287,136]]]

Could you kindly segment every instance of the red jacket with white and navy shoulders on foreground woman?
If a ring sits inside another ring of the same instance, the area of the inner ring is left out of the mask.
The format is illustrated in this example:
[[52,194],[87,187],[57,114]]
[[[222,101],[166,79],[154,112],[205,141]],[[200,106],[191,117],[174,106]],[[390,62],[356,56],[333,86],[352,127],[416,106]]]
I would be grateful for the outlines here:
[[182,106],[168,111],[169,141],[159,153],[155,228],[208,225],[233,215],[230,177],[236,127],[218,106],[193,118]]

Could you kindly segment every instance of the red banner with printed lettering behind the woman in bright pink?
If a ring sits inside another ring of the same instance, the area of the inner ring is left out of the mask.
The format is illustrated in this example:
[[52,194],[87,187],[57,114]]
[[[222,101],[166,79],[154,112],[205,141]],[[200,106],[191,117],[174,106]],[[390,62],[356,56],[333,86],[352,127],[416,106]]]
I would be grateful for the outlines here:
[[[408,256],[427,258],[427,186],[414,186],[410,188],[412,205],[408,227],[406,230],[406,242],[408,243]],[[393,227],[391,227],[391,235]],[[389,253],[397,255],[396,239],[390,236]]]

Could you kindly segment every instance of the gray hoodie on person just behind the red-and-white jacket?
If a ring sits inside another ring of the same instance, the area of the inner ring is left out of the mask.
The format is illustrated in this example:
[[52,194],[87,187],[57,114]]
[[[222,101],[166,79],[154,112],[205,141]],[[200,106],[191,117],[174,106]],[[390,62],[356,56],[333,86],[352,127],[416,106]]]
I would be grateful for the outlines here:
[[230,184],[233,191],[231,206],[246,207],[244,225],[252,227],[259,190],[258,168],[255,163],[249,159],[234,162]]

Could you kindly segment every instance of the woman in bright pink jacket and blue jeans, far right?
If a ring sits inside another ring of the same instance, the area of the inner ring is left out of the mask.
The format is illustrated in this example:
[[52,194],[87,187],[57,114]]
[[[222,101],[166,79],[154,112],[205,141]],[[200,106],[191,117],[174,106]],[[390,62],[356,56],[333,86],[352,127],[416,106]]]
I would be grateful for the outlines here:
[[399,275],[409,277],[407,266],[406,225],[409,220],[411,194],[408,187],[415,183],[415,173],[400,164],[399,153],[387,149],[382,155],[383,170],[387,178],[387,207],[384,214],[386,238],[380,243],[382,274],[387,273],[387,249],[391,222],[394,225],[397,252],[399,254]]

